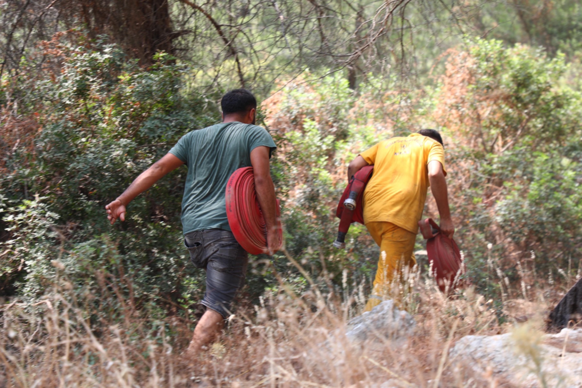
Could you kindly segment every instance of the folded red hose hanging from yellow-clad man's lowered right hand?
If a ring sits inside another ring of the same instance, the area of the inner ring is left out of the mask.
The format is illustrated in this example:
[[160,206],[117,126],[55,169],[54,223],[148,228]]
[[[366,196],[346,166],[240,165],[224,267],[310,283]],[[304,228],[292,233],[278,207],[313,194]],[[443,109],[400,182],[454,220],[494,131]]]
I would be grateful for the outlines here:
[[431,218],[418,221],[420,233],[427,239],[428,262],[431,264],[435,279],[442,292],[465,286],[461,275],[466,273],[461,252],[455,240],[441,233],[441,228]]

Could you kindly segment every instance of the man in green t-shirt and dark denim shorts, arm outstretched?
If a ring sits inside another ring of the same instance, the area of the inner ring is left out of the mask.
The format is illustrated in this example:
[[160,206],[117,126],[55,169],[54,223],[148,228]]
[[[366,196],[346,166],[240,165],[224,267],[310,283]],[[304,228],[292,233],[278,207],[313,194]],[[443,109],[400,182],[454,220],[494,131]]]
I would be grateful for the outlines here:
[[226,183],[236,169],[253,167],[255,191],[267,224],[267,254],[278,250],[275,224],[275,187],[269,158],[275,143],[255,125],[257,100],[244,89],[222,97],[222,123],[185,134],[168,154],[155,162],[105,207],[107,218],[125,220],[126,206],[133,198],[179,166],[188,168],[182,198],[184,245],[190,259],[206,271],[206,292],[201,304],[206,311],[187,349],[197,355],[215,340],[230,314],[230,303],[244,283],[248,254],[237,243],[226,218]]

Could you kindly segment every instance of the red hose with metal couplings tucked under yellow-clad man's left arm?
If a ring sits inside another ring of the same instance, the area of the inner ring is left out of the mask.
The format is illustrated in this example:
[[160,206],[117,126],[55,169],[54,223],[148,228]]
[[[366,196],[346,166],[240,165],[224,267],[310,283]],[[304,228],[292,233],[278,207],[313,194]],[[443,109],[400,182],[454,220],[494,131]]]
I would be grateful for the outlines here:
[[350,229],[352,222],[364,223],[364,188],[372,177],[374,165],[361,168],[347,184],[346,190],[343,191],[342,198],[339,200],[336,216],[340,219],[338,227],[338,238],[333,241],[336,248],[345,248],[346,234]]

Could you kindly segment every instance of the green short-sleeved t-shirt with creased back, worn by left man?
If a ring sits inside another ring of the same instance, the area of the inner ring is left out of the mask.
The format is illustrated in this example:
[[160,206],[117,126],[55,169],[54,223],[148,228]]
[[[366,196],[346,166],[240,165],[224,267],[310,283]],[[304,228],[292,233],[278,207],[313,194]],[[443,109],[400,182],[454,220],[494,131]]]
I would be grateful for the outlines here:
[[[263,127],[239,122],[215,124],[190,131],[169,153],[186,163],[182,198],[184,234],[196,230],[230,230],[226,218],[226,183],[236,169],[251,166],[251,151],[276,148]],[[269,152],[270,156],[270,152]]]

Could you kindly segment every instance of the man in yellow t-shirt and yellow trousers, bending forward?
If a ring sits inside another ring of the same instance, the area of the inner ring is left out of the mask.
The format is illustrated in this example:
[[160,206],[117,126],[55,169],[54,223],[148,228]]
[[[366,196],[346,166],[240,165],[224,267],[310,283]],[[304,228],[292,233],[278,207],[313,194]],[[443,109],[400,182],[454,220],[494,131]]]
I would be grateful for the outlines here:
[[445,150],[438,131],[423,129],[408,137],[381,141],[350,162],[348,180],[367,165],[374,165],[374,174],[364,191],[364,223],[380,247],[374,289],[365,307],[370,311],[382,301],[395,274],[416,264],[414,241],[428,186],[437,201],[441,232],[452,237],[455,226],[445,181]]

